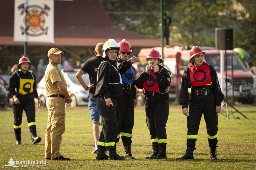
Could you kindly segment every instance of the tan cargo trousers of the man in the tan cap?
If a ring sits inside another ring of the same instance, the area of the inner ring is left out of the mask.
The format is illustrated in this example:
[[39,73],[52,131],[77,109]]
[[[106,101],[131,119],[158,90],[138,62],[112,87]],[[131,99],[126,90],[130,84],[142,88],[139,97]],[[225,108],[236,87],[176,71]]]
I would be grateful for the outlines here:
[[45,157],[54,159],[61,156],[61,135],[65,132],[65,101],[59,97],[48,97],[48,122],[45,133]]

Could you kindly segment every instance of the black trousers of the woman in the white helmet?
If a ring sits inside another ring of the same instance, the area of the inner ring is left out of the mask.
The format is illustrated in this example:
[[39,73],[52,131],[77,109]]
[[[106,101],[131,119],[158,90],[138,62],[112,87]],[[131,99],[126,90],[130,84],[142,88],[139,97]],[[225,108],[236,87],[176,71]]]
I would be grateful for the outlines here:
[[114,146],[118,136],[118,123],[116,119],[116,102],[115,98],[111,98],[114,106],[108,107],[105,99],[97,97],[97,107],[100,112],[102,130],[100,132],[98,148],[104,149],[105,146]]

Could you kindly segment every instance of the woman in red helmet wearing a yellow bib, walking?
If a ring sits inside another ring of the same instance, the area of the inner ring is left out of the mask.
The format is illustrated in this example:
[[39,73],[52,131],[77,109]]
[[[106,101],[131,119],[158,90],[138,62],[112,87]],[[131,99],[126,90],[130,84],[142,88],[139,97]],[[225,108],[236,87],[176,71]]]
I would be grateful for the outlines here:
[[[16,144],[21,144],[21,123],[23,110],[26,113],[28,127],[31,134],[32,144],[37,144],[41,141],[36,135],[36,111],[34,98],[37,99],[37,107],[40,107],[40,100],[36,90],[36,76],[28,70],[31,63],[27,57],[19,59],[18,69],[10,77],[9,93],[13,97],[12,108],[14,114],[14,134]],[[16,91],[15,91],[16,89]]]

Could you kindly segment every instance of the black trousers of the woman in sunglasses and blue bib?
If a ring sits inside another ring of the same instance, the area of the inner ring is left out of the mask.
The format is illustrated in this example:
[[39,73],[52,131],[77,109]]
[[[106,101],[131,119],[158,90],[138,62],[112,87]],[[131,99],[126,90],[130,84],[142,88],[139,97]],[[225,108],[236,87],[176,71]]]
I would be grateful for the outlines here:
[[[133,95],[123,95],[118,100],[116,118],[118,122],[118,135],[121,134],[123,146],[131,146],[132,129],[134,126],[134,103]],[[117,138],[116,143],[119,142]]]

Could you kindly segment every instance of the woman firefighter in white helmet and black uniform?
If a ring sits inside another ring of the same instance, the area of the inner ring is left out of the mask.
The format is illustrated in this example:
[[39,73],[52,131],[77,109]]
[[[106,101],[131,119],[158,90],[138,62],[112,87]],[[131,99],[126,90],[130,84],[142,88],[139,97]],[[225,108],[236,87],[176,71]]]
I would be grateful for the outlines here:
[[[109,39],[103,45],[103,61],[98,68],[97,86],[95,96],[97,107],[102,120],[102,131],[98,141],[98,153],[96,160],[120,160],[125,159],[116,153],[116,140],[118,136],[118,123],[116,119],[116,104],[123,93],[121,74],[131,67],[131,61],[122,65],[116,62],[120,47],[118,43]],[[104,152],[109,150],[109,156]]]

